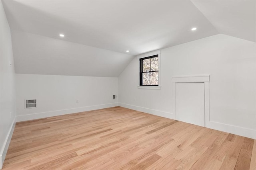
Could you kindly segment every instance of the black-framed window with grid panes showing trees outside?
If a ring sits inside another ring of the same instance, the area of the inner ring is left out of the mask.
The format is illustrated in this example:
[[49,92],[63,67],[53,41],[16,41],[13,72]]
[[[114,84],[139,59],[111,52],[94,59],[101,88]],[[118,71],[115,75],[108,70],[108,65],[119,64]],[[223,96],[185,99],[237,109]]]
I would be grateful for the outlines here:
[[158,86],[158,55],[140,58],[140,86]]

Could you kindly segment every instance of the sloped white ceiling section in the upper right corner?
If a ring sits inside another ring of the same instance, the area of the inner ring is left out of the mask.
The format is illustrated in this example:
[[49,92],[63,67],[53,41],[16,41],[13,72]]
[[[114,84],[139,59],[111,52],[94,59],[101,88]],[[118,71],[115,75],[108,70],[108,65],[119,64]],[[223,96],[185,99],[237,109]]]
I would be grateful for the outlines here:
[[256,0],[191,0],[219,33],[256,42]]

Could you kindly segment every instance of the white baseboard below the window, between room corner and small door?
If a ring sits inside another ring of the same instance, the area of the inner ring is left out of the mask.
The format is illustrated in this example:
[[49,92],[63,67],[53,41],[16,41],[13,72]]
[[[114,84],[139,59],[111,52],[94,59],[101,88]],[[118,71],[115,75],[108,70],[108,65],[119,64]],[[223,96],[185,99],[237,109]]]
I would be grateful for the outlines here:
[[142,112],[145,112],[145,113],[150,113],[152,115],[166,117],[166,118],[169,118],[169,119],[174,119],[174,120],[176,119],[175,114],[170,113],[170,112],[166,112],[166,111],[149,109],[149,108],[145,108],[145,107],[134,106],[134,105],[124,104],[124,103],[118,103],[118,106],[125,107],[125,108],[128,108],[128,109],[137,110],[137,111],[142,111]]

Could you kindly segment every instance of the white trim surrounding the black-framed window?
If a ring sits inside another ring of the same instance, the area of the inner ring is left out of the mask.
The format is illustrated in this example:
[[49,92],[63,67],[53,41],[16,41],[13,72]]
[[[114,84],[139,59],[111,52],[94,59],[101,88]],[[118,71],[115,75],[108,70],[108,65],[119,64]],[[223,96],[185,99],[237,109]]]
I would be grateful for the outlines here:
[[[158,86],[140,86],[140,59],[144,57],[150,57],[152,55],[158,55]],[[138,59],[138,88],[139,89],[161,89],[161,50],[151,51],[141,55],[137,55]]]

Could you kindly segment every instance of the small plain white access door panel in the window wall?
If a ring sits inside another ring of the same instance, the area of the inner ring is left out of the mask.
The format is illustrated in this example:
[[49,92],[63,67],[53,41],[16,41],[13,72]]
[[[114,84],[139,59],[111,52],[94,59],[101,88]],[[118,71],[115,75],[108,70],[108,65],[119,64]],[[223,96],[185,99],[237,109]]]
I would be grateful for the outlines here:
[[205,127],[204,83],[176,83],[176,119]]

